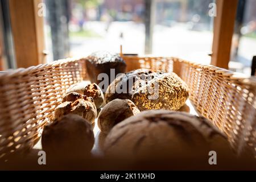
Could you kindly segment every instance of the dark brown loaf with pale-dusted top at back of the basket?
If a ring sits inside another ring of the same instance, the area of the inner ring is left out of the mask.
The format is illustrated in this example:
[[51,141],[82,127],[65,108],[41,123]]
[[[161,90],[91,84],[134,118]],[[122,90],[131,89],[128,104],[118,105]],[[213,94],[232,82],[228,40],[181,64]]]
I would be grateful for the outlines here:
[[[114,71],[112,75],[110,74],[110,69]],[[90,82],[100,84],[100,82],[104,81],[104,88],[101,89],[105,93],[108,85],[114,80],[115,76],[117,76],[118,73],[125,73],[126,63],[122,57],[117,54],[98,51],[92,53],[92,55],[88,56],[86,59],[86,70]],[[102,76],[108,76],[108,78],[105,78],[105,80],[101,80],[101,76],[98,78],[98,75],[101,73],[105,73],[106,75]]]

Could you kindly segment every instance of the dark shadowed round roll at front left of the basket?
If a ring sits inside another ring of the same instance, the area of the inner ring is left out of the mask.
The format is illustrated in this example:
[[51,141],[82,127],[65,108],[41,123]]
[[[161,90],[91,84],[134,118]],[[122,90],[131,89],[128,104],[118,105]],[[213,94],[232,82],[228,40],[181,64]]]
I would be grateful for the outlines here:
[[86,119],[67,114],[44,127],[42,147],[47,156],[58,159],[84,158],[90,154],[94,135]]

